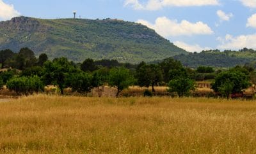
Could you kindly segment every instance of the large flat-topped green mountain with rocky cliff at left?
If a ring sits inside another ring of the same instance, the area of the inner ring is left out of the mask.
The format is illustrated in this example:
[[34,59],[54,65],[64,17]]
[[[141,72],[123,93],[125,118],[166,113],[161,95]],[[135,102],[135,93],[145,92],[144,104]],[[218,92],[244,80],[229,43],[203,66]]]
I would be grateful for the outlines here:
[[145,25],[123,20],[15,17],[0,22],[0,50],[19,52],[23,47],[37,56],[47,53],[50,59],[67,57],[74,62],[92,58],[138,63],[186,54]]

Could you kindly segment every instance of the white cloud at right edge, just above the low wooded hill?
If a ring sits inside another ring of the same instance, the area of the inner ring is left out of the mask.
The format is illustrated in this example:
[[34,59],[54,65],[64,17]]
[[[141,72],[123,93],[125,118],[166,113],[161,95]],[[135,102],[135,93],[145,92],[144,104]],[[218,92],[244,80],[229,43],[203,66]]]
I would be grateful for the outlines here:
[[256,49],[256,34],[236,37],[227,34],[225,38],[218,38],[218,41],[221,41],[221,45],[219,45],[218,48],[223,50],[238,50],[244,47]]

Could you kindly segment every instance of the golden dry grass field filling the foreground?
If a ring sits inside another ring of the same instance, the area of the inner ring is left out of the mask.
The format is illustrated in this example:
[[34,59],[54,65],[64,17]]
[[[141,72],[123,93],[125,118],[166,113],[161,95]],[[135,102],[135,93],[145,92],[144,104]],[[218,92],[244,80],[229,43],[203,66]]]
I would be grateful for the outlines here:
[[35,95],[0,103],[1,153],[256,153],[256,103]]

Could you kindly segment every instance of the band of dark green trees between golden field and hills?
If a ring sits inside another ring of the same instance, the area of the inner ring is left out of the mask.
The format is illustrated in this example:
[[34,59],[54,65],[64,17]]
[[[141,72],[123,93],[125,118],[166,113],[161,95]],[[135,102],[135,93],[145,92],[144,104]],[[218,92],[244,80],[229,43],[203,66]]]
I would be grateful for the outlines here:
[[8,71],[0,73],[0,87],[6,87],[17,94],[43,92],[47,85],[55,85],[63,94],[65,88],[73,92],[86,94],[94,87],[109,85],[116,87],[116,97],[131,85],[151,87],[166,85],[168,92],[180,97],[188,96],[195,90],[195,81],[202,80],[202,74],[214,80],[212,89],[223,97],[241,92],[253,83],[252,67],[234,67],[228,71],[215,71],[209,66],[190,69],[182,66],[178,60],[164,59],[157,64],[122,64],[117,60],[86,59],[81,64],[61,57],[49,60],[45,53],[38,58],[29,48],[20,49],[19,53],[11,50],[0,51],[0,63]]

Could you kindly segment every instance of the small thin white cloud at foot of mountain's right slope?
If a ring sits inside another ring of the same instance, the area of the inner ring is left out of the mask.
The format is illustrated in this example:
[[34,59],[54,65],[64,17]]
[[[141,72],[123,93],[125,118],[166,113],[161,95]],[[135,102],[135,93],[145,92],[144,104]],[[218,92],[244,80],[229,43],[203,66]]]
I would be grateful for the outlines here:
[[179,46],[180,48],[183,48],[187,52],[202,52],[203,50],[211,49],[208,47],[202,47],[200,45],[188,45],[187,43],[184,43],[182,41],[175,41],[175,42],[173,42],[173,44],[176,46]]

